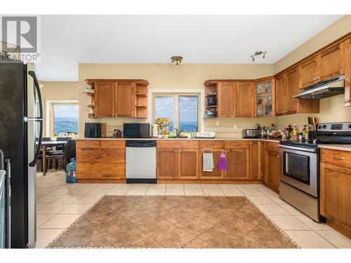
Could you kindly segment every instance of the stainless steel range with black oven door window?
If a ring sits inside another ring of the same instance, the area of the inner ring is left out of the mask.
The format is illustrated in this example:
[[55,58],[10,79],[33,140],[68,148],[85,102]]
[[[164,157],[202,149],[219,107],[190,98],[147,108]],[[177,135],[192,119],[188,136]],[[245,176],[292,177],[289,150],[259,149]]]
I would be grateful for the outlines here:
[[319,123],[312,141],[283,140],[279,143],[279,195],[316,222],[319,214],[318,144],[351,144],[351,122]]

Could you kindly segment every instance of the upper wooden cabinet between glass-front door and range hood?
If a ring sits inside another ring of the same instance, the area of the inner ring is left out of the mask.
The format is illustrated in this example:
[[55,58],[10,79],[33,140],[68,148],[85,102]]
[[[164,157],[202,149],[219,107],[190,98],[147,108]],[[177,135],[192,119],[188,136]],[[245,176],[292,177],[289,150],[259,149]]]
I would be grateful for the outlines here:
[[275,116],[319,112],[319,100],[293,98],[293,95],[299,93],[298,83],[298,67],[294,67],[275,78]]

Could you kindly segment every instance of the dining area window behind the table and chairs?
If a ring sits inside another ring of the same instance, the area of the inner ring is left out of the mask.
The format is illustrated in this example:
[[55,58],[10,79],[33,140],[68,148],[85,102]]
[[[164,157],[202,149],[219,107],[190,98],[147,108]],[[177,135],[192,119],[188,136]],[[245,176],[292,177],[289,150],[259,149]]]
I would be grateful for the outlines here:
[[53,135],[78,133],[78,104],[53,104]]

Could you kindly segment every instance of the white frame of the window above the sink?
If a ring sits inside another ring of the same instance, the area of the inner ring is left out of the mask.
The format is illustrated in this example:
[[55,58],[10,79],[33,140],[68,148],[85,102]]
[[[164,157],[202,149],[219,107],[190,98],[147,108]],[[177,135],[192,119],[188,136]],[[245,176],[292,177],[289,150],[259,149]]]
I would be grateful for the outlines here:
[[[151,123],[155,123],[155,98],[156,97],[174,97],[174,122],[173,128],[180,127],[180,111],[179,111],[179,97],[188,96],[188,97],[197,97],[197,129],[201,130],[201,93],[194,92],[154,92],[152,93],[152,120]],[[196,132],[197,130],[194,130]],[[174,134],[174,130],[169,131],[170,134]],[[183,132],[185,134],[190,134],[190,132]]]

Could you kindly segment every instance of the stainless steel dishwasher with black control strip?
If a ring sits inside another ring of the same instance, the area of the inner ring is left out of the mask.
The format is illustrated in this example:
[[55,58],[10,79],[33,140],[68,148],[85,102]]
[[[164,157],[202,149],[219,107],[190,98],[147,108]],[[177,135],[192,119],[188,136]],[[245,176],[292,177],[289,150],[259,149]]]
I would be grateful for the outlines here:
[[156,184],[156,140],[126,140],[126,182]]

